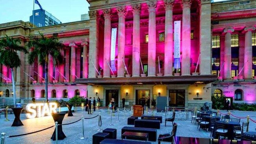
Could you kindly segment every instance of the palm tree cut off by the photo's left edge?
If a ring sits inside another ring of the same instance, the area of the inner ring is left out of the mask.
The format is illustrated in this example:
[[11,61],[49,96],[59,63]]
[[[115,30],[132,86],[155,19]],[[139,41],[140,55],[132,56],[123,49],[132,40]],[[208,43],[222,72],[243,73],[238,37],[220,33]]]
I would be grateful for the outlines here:
[[24,46],[20,45],[20,39],[12,37],[4,37],[0,40],[0,64],[6,65],[11,68],[11,81],[13,85],[13,104],[16,105],[16,89],[13,68],[21,66],[20,57],[17,52],[28,53]]

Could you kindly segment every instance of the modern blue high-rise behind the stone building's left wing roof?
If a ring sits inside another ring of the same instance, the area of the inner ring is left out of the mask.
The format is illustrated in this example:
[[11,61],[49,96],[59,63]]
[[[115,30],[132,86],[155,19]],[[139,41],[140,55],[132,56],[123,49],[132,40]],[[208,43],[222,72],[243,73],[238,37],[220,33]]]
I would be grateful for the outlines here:
[[34,24],[37,27],[61,24],[60,20],[58,20],[56,17],[54,17],[52,14],[48,13],[45,10],[36,9],[33,10],[33,14],[34,20],[33,15],[30,16],[30,23]]

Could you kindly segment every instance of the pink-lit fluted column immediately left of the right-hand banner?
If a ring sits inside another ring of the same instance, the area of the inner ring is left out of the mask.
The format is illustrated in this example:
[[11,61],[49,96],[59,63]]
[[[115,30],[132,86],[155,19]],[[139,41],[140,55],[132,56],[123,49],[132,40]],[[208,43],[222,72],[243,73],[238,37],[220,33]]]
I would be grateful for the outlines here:
[[164,76],[173,76],[173,1],[174,0],[165,0]]

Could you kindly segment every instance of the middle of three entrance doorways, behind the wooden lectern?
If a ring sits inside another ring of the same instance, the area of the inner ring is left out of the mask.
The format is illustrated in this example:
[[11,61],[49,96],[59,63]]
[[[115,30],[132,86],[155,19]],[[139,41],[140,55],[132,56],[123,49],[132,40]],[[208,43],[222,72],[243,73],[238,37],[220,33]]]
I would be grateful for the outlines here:
[[136,105],[147,105],[147,100],[150,105],[150,90],[136,90]]

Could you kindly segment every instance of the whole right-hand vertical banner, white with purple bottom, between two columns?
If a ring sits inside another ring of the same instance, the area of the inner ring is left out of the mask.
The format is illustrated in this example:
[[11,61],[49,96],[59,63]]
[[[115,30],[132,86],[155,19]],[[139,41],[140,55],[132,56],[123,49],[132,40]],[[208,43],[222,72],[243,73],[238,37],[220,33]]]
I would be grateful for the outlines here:
[[174,68],[180,68],[180,20],[174,21]]

